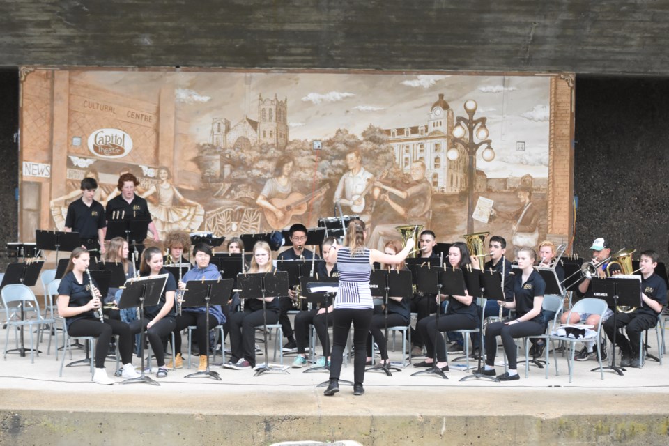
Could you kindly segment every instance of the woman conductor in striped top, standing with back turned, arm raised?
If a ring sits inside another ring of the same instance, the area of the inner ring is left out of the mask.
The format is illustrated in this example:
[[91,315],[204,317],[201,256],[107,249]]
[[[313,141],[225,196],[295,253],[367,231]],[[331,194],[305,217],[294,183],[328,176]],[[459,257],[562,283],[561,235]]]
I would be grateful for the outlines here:
[[365,233],[362,220],[351,220],[346,231],[344,246],[335,242],[337,270],[339,271],[339,291],[334,299],[332,312],[332,367],[330,383],[325,389],[326,396],[339,392],[339,374],[344,356],[344,346],[348,331],[353,323],[353,346],[355,348],[353,394],[364,394],[365,344],[369,333],[369,323],[374,313],[374,300],[369,289],[371,266],[374,262],[397,265],[406,259],[415,243],[413,238],[406,241],[406,246],[399,253],[390,256],[376,249],[364,247]]

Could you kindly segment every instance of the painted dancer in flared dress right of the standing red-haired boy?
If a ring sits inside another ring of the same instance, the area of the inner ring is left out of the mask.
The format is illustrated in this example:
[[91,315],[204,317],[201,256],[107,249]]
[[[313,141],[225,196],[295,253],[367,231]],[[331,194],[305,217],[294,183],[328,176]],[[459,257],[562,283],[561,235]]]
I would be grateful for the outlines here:
[[[158,167],[160,183],[148,188],[142,198],[155,194],[157,204],[148,203],[155,229],[161,240],[170,231],[197,231],[204,220],[204,208],[199,203],[191,201],[177,190],[171,183],[171,172],[167,167]],[[175,201],[182,206],[175,206]]]

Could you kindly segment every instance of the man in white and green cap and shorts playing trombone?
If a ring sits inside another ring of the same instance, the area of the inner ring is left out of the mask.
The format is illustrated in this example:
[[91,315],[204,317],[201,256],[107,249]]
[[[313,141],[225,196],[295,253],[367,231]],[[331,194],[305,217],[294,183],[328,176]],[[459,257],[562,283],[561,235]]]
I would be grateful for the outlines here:
[[[594,265],[601,263],[601,266],[597,268],[597,277],[606,277],[606,266],[608,266],[608,263],[602,262],[611,256],[611,247],[608,238],[595,238],[590,250],[592,251],[592,263]],[[621,272],[620,265],[613,263],[611,268],[609,268],[609,272],[612,275]],[[587,277],[583,279],[583,282],[578,284],[578,295],[583,298],[594,297],[592,295],[591,281]],[[567,316],[567,313],[562,314],[560,321],[562,323],[585,323],[587,325],[592,325],[593,330],[597,330],[597,325],[599,325],[600,322],[604,322],[606,319],[610,318],[610,316],[613,316],[613,310],[610,308],[606,309],[606,313],[604,313],[601,321],[599,320],[599,314],[578,314],[572,312],[569,321],[567,321]],[[594,341],[586,341],[584,344],[583,350],[581,350],[574,359],[577,361],[586,361],[590,358],[597,359],[597,350],[594,348]],[[601,360],[606,360],[606,348],[604,347],[601,348]]]

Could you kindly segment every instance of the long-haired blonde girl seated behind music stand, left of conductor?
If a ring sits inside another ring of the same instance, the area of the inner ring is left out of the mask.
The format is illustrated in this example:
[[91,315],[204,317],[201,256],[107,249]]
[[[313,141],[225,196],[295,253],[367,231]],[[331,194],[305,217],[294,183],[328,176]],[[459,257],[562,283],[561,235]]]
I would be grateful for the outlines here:
[[[257,242],[253,247],[253,259],[247,272],[272,272],[272,251],[265,241]],[[245,300],[244,311],[230,315],[230,349],[232,356],[223,367],[227,369],[251,369],[256,365],[254,344],[256,327],[263,325],[263,298]],[[265,298],[265,318],[268,323],[279,322],[278,298]]]

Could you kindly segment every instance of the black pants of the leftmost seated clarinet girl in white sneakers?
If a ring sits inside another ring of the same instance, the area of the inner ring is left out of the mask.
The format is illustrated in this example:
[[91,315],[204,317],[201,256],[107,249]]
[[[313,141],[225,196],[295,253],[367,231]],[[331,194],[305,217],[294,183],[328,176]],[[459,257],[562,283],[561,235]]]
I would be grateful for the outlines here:
[[[72,322],[68,327],[70,336],[93,336],[98,338],[98,344],[95,346],[95,367],[102,369],[105,367],[105,357],[109,351],[109,341],[112,336],[118,334],[118,353],[121,353],[121,362],[130,364],[132,362],[132,333],[130,326],[115,319],[105,319],[101,323],[100,319],[86,318]],[[65,352],[63,352],[63,355]]]

